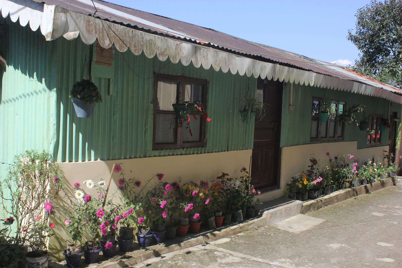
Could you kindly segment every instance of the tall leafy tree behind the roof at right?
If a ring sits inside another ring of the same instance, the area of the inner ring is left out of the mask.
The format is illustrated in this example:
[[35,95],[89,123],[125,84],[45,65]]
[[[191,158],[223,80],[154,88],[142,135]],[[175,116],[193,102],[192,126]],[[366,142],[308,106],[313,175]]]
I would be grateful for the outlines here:
[[360,51],[356,71],[402,88],[402,0],[372,0],[355,16],[355,33],[347,38]]

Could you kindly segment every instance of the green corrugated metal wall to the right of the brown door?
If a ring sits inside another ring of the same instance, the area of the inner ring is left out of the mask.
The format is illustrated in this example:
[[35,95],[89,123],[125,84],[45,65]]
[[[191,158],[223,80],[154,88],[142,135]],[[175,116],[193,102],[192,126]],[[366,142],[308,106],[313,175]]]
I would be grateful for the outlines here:
[[[310,127],[312,117],[312,98],[324,96],[324,91],[320,88],[310,86],[293,85],[293,111],[288,113],[289,105],[289,86],[287,83],[283,88],[282,103],[282,131],[281,147],[302,145],[310,142]],[[353,104],[364,104],[366,116],[370,114],[381,114],[388,116],[388,100],[371,96],[355,94],[340,90],[325,90],[326,96],[332,100],[345,101],[346,106]],[[391,103],[390,112],[401,113],[401,105]],[[357,119],[361,119],[363,114],[357,114]],[[292,131],[291,131],[292,130]],[[360,131],[356,125],[345,125],[345,136],[343,141],[357,141],[357,149],[367,148],[367,133]],[[384,131],[381,138],[381,145],[388,145],[389,130]],[[325,142],[325,141],[321,141]]]

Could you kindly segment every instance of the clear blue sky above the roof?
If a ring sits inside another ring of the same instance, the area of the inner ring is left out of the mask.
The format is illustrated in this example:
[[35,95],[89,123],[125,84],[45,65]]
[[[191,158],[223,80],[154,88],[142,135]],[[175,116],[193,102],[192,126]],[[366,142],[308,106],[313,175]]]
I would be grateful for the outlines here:
[[328,62],[340,59],[353,62],[358,57],[359,51],[346,39],[347,31],[355,28],[357,9],[369,3],[369,0],[109,1]]

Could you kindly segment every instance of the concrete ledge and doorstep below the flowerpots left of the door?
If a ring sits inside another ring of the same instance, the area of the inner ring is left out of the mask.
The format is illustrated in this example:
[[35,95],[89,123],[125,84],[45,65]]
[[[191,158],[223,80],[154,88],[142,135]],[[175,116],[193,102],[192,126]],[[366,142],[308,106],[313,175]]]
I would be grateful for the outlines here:
[[[164,244],[152,245],[145,249],[139,249],[138,244],[133,243],[133,251],[131,252],[123,254],[117,250],[117,255],[109,259],[104,258],[102,254],[100,254],[98,259],[99,262],[90,265],[86,264],[84,259],[82,259],[80,267],[121,268],[132,266],[150,258],[162,256],[162,254],[209,243],[217,239],[250,230],[254,227],[262,227],[264,225],[289,219],[290,217],[297,215],[300,212],[301,207],[301,201],[284,197],[277,198],[258,206],[257,209],[260,213],[257,218],[248,219],[238,224],[226,225],[213,231],[204,231],[193,235],[187,235],[186,237],[176,237],[176,239],[173,240],[166,240],[166,243]],[[49,261],[49,266],[51,268],[62,268],[66,267],[66,262]]]

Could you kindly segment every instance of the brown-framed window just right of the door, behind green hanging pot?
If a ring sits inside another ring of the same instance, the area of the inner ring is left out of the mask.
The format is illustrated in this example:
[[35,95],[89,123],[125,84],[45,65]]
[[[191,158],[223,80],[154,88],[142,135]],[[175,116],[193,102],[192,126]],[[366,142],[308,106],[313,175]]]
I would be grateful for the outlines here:
[[[321,102],[322,98],[313,97],[310,141],[343,140],[344,122],[336,121],[334,116],[330,117],[326,122],[320,122],[318,119]],[[346,105],[345,102],[334,101],[334,105],[336,106],[336,116],[342,115]]]

